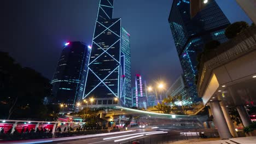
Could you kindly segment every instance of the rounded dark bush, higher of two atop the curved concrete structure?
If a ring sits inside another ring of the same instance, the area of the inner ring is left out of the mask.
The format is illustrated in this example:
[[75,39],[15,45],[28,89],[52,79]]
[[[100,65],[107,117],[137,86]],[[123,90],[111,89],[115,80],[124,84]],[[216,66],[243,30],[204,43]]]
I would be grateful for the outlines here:
[[245,21],[234,22],[226,28],[225,35],[228,39],[235,38],[243,29],[248,27],[249,25]]

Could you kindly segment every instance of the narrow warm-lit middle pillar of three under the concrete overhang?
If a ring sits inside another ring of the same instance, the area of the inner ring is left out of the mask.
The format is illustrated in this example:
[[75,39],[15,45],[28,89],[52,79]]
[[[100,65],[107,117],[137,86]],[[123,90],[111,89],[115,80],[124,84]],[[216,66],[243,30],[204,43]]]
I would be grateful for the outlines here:
[[222,112],[223,112],[224,117],[226,119],[226,123],[228,124],[229,131],[230,131],[231,135],[233,137],[238,137],[238,135],[236,133],[236,130],[235,130],[235,127],[234,127],[234,124],[231,121],[228,109],[226,108],[226,106],[223,104],[222,101],[220,101],[220,106],[222,107]]

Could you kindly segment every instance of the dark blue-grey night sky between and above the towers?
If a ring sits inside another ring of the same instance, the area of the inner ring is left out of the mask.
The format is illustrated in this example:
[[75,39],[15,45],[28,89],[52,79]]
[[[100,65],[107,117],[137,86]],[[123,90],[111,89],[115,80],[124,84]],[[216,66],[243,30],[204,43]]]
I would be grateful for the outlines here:
[[[252,23],[235,0],[216,1],[230,22]],[[170,86],[182,73],[168,26],[171,4],[172,0],[114,2],[113,17],[122,17],[131,34],[132,75],[140,73],[148,83],[163,80]],[[91,44],[97,7],[98,0],[2,0],[0,51],[51,79],[66,41]]]

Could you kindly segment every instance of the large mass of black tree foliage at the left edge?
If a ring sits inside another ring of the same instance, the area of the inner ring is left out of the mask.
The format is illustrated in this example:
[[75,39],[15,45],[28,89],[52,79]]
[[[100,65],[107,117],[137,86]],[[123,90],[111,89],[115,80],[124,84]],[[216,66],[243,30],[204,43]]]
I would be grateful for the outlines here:
[[50,81],[6,52],[0,52],[0,93],[1,118],[42,118],[48,112],[43,99],[50,96]]

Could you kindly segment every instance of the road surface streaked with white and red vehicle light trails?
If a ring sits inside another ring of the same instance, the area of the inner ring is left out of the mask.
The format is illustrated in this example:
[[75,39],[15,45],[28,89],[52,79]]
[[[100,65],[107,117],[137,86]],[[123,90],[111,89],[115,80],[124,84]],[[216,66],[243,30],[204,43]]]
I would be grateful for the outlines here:
[[[159,127],[146,127],[146,129],[133,128],[128,131],[119,131],[115,133],[95,134],[95,135],[83,135],[72,137],[60,137],[53,139],[42,140],[27,140],[27,141],[12,141],[5,143],[85,143],[85,144],[112,144],[112,143],[124,143],[127,144],[132,141],[139,141],[141,143],[164,143],[167,141],[184,140],[186,137],[182,135],[183,130],[168,129],[170,125],[164,125],[165,129]],[[163,126],[163,125],[161,125]]]

